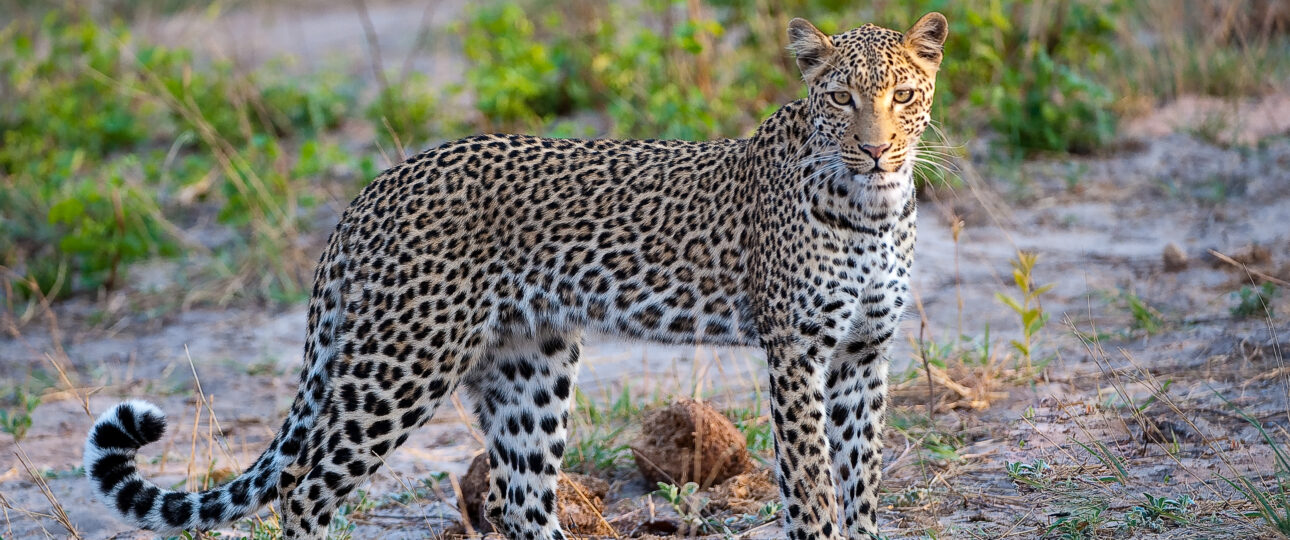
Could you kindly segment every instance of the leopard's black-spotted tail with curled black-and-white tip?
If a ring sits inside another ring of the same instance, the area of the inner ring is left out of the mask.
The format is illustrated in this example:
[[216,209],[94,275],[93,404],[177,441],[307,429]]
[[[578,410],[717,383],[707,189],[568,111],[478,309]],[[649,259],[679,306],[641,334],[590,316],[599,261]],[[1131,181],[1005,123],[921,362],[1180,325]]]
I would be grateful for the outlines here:
[[94,423],[85,441],[85,476],[94,495],[121,518],[160,534],[205,531],[246,518],[295,486],[313,424],[328,392],[328,366],[338,353],[348,262],[333,236],[315,278],[310,305],[311,334],[306,370],[283,428],[259,459],[233,481],[205,491],[173,491],[143,478],[135,467],[139,447],[165,433],[165,414],[144,401],[120,403]]

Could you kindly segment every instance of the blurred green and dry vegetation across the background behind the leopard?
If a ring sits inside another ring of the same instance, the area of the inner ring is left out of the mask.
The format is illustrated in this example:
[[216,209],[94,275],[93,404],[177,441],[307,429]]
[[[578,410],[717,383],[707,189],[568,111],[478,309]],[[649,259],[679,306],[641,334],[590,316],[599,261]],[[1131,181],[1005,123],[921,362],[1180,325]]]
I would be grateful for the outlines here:
[[[338,209],[437,142],[749,134],[802,95],[792,17],[826,32],[948,17],[928,135],[948,168],[924,183],[952,186],[956,160],[1113,151],[1122,119],[1180,95],[1275,92],[1290,64],[1290,3],[1272,0],[481,1],[453,36],[418,41],[463,58],[450,85],[406,66],[248,66],[134,32],[253,5],[0,1],[6,302],[121,287],[132,263],[159,258],[177,262],[174,302],[298,302]],[[362,1],[341,5],[365,17]],[[366,37],[352,48],[382,39]]]

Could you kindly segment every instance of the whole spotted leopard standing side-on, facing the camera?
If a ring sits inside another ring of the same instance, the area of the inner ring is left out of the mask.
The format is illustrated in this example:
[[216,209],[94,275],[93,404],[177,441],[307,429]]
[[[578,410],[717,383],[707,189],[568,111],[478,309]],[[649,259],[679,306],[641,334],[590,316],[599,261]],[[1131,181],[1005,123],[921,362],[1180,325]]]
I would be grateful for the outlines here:
[[462,389],[490,467],[488,521],[566,539],[556,486],[583,335],[765,353],[782,526],[878,532],[891,344],[908,303],[913,168],[948,24],[787,27],[805,98],[747,138],[475,135],[381,173],[341,215],[307,307],[298,393],[259,458],[200,492],[139,473],[165,415],[103,412],[95,497],[160,534],[279,500],[288,539],[338,505]]

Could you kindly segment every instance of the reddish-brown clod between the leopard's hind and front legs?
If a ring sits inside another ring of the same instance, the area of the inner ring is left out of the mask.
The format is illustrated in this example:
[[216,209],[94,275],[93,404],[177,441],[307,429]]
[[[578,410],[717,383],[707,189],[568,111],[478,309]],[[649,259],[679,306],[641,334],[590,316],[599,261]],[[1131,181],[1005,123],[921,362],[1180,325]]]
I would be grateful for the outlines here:
[[752,465],[743,433],[720,411],[693,400],[646,414],[632,454],[650,485],[695,482],[707,487]]

